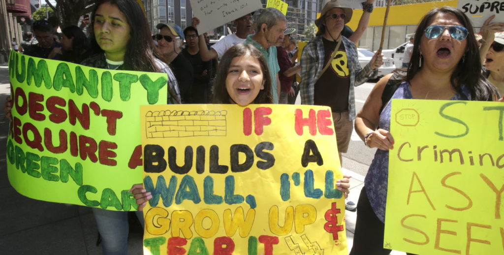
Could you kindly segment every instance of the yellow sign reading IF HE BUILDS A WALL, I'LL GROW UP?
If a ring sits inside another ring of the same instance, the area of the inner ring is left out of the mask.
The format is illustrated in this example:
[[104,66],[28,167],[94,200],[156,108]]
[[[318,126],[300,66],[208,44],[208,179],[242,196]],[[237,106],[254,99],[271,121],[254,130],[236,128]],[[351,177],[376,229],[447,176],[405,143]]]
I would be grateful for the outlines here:
[[145,254],[347,254],[329,107],[141,111]]

